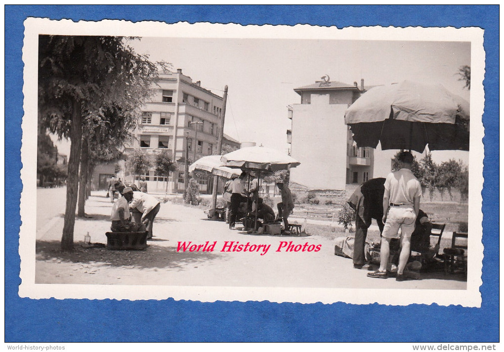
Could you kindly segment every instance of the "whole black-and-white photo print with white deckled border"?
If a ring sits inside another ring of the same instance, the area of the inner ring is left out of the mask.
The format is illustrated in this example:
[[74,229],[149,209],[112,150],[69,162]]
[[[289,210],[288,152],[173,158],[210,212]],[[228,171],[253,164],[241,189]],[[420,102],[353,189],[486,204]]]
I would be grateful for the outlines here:
[[481,30],[25,26],[21,297],[481,304]]

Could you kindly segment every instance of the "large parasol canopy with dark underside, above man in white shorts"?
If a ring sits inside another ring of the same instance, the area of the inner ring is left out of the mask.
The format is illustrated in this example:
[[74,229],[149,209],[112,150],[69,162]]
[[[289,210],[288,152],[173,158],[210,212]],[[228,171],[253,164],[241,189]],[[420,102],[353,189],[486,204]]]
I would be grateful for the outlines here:
[[440,84],[371,88],[348,108],[345,123],[357,147],[469,150],[469,103]]

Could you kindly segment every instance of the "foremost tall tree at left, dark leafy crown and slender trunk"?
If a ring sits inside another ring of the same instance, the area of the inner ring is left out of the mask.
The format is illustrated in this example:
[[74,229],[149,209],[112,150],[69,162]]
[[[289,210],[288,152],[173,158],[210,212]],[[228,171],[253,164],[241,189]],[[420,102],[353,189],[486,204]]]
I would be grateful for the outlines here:
[[157,67],[137,54],[127,38],[54,35],[39,36],[38,66],[39,123],[71,141],[61,237],[61,249],[71,251],[83,131],[107,125],[101,119],[107,109],[130,111],[130,119],[139,116]]

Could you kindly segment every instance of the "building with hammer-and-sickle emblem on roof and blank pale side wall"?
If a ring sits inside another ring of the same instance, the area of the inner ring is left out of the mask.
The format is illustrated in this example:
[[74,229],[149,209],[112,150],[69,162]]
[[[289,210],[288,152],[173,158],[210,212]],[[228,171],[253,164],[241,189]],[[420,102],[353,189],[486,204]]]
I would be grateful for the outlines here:
[[346,109],[367,89],[364,80],[359,87],[326,77],[294,89],[301,103],[289,106],[287,143],[301,165],[291,169],[291,181],[312,190],[344,190],[373,178],[374,149],[357,148],[345,125]]

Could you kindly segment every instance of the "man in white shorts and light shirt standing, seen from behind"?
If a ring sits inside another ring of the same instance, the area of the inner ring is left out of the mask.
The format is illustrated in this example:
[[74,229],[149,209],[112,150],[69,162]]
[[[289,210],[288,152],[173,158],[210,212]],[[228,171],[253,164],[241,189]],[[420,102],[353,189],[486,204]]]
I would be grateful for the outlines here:
[[[385,226],[382,233],[382,246],[380,250],[380,268],[367,274],[374,278],[387,278],[387,264],[390,255],[390,241],[400,239],[401,253],[397,268],[397,281],[406,280],[403,274],[404,267],[410,256],[410,239],[415,230],[415,220],[420,209],[421,187],[420,182],[411,172],[413,155],[411,152],[399,154],[400,169],[389,173],[385,180],[385,193],[383,196],[383,222]],[[401,234],[399,235],[399,228]]]

